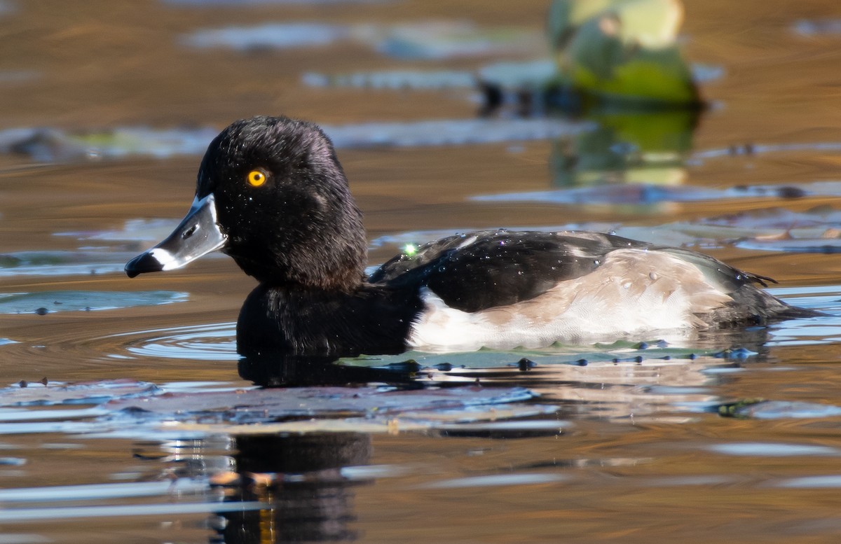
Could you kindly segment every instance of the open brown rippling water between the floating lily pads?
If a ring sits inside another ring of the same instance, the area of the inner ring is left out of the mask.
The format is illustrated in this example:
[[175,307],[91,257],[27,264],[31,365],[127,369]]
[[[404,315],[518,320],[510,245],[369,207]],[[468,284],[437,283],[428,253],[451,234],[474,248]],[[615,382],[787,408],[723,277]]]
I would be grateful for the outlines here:
[[[838,180],[841,35],[794,31],[801,19],[837,16],[836,3],[685,4],[687,55],[722,75],[702,86],[713,107],[701,118],[692,151],[674,160],[674,179],[711,189]],[[244,53],[190,49],[182,37],[290,21],[388,27],[469,20],[542,31],[545,2],[513,6],[430,0],[237,7],[3,3],[8,9],[0,13],[0,129],[222,128],[235,118],[281,112],[327,125],[470,119],[478,105],[469,89],[312,87],[301,76],[407,67],[471,70],[495,60],[532,60],[545,51],[401,60],[356,41]],[[704,154],[746,144],[778,147]],[[790,144],[804,145],[780,147]],[[656,238],[672,230],[656,227],[672,222],[771,207],[838,207],[832,191],[793,200],[753,196],[645,205],[471,200],[557,188],[550,161],[558,149],[575,145],[537,139],[375,146],[339,154],[372,240],[415,231],[576,222],[638,228],[634,233],[643,238],[650,227]],[[46,315],[0,314],[0,339],[13,341],[0,344],[0,384],[44,377],[53,383],[131,379],[188,391],[250,384],[237,374],[232,322],[254,282],[230,259],[204,259],[137,280],[119,272],[125,256],[149,247],[186,211],[198,160],[129,156],[37,163],[26,155],[0,156],[0,250],[17,258],[20,252],[70,252],[59,254],[60,263],[0,275],[0,293],[113,291],[113,306],[123,306],[60,311],[62,305],[46,296],[34,301],[50,310]],[[645,175],[627,173],[634,179]],[[150,238],[142,236],[155,223],[103,239],[136,219],[169,222]],[[781,296],[835,316],[688,346],[726,343],[758,353],[745,358],[613,364],[588,356],[586,366],[570,363],[574,357],[554,364],[536,358],[536,368],[521,371],[500,366],[492,353],[469,360],[452,356],[452,364],[468,369],[438,372],[433,381],[479,378],[486,387],[526,386],[542,395],[535,402],[557,406],[551,416],[507,430],[485,425],[250,439],[165,427],[151,432],[126,418],[120,435],[119,425],[108,432],[96,425],[86,429],[84,424],[98,421],[89,413],[49,414],[89,404],[5,408],[0,543],[214,541],[214,527],[225,525],[220,515],[230,518],[230,542],[838,541],[841,416],[830,409],[841,405],[841,255],[708,245],[717,257],[780,280],[786,288],[778,291]],[[84,251],[94,257],[78,257]],[[373,248],[371,261],[382,262],[394,251],[394,243]],[[81,259],[81,274],[62,268],[74,255]],[[188,301],[131,305],[119,294],[154,290],[186,293]],[[66,295],[55,298],[69,304]],[[506,357],[511,363],[519,358]],[[779,403],[771,405],[777,411],[743,418],[716,411],[723,403],[758,398]],[[21,422],[21,413],[32,419]],[[246,479],[251,473],[286,476],[269,487],[209,484],[232,469]],[[223,503],[225,493],[229,501]],[[230,499],[263,505],[240,507]],[[221,514],[231,504],[246,513]]]

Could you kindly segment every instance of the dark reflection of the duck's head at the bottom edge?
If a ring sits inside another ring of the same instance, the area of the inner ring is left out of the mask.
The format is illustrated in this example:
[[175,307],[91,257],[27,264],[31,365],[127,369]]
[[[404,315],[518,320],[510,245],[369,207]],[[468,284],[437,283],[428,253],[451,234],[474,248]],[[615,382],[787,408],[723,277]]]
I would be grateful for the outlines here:
[[260,501],[261,510],[220,513],[212,542],[356,541],[349,527],[353,488],[373,479],[350,479],[342,468],[368,464],[371,437],[357,433],[236,437],[234,484],[225,502]]

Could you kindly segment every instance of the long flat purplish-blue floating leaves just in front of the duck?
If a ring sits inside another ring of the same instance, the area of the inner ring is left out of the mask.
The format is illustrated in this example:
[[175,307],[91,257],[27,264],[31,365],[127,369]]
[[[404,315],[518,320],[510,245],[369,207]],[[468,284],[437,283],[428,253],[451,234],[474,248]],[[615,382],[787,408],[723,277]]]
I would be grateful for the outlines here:
[[[167,436],[277,432],[400,432],[462,423],[501,421],[553,413],[553,405],[522,404],[537,395],[523,388],[450,387],[394,390],[389,387],[309,387],[285,390],[241,388],[214,391],[167,391],[130,380],[87,384],[42,384],[0,390],[0,405],[34,407],[94,405],[77,411],[0,411],[0,434],[44,432],[99,433],[145,437],[159,431]],[[95,417],[93,421],[56,421]],[[304,418],[303,420],[301,418]],[[134,421],[134,425],[130,424]],[[28,427],[24,427],[28,426]],[[563,425],[555,422],[559,430]],[[475,427],[474,427],[475,428]],[[114,434],[115,433],[115,434]]]

